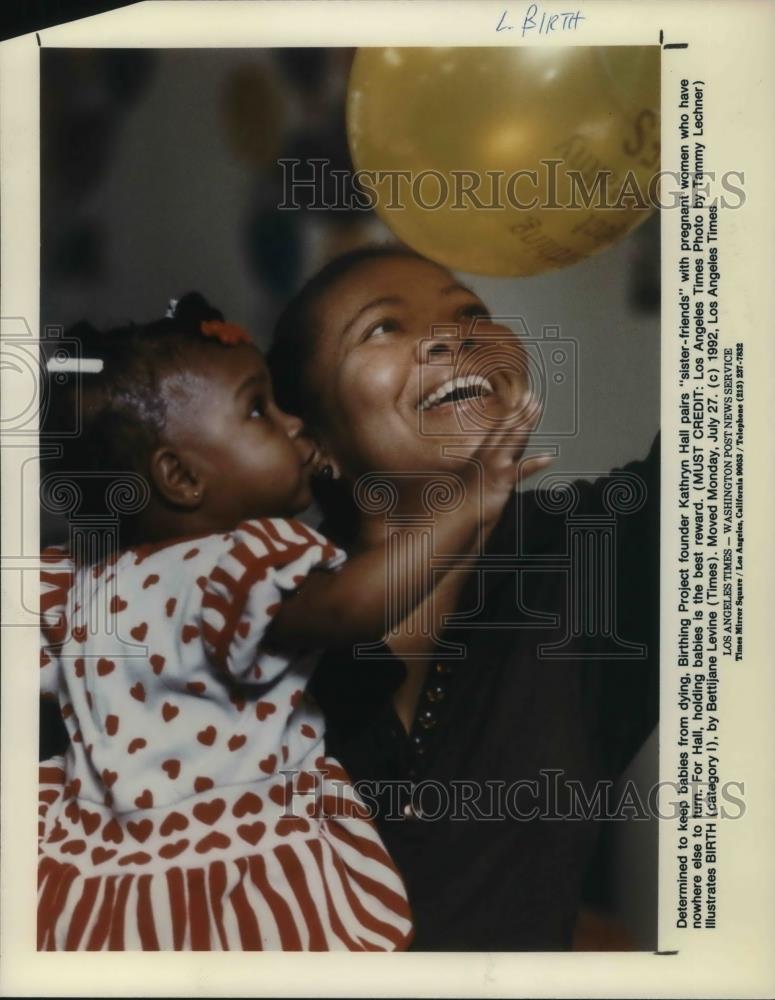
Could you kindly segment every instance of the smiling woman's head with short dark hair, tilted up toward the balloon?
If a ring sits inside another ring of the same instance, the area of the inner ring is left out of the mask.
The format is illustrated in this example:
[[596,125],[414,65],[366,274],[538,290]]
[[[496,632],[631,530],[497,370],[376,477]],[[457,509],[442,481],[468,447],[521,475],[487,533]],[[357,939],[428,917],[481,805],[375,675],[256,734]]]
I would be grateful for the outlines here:
[[476,434],[461,431],[481,434],[507,415],[527,422],[531,402],[512,331],[446,269],[406,250],[367,248],[324,268],[281,316],[268,360],[278,399],[348,481],[459,470],[466,454],[441,457],[438,435],[470,454]]

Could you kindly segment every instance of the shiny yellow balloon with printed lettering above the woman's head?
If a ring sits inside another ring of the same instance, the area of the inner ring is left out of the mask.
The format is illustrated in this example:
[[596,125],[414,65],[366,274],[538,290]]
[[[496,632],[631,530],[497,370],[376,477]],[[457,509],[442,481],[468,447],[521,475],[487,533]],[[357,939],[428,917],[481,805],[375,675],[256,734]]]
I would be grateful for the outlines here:
[[396,236],[447,267],[573,264],[653,210],[659,57],[658,46],[359,49],[347,130],[360,186]]

